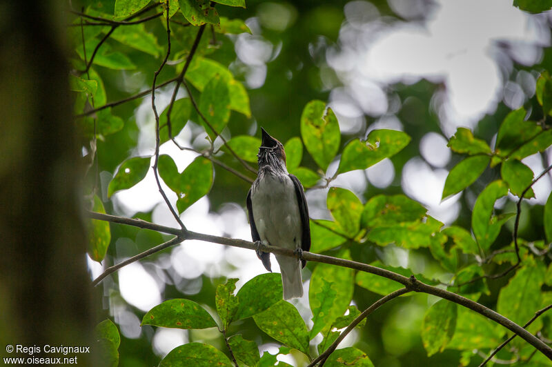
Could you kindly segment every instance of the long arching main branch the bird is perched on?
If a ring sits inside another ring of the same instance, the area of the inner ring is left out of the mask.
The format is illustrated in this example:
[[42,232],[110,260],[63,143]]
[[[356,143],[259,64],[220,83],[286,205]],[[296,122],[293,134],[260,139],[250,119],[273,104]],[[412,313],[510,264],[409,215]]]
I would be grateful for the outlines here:
[[[102,215],[100,213],[93,213],[92,217],[94,219],[100,219],[100,220],[107,220],[111,221],[113,216],[110,215]],[[146,228],[144,226],[144,221],[140,221],[137,219],[125,219],[125,218],[119,218],[117,219],[117,223],[124,223],[128,224],[130,226],[133,226],[137,221],[140,228]],[[148,224],[148,229],[157,230],[159,228],[159,232],[167,232],[166,228],[164,226],[157,226],[156,224]],[[280,248],[275,246],[266,246],[266,245],[259,245],[254,244],[250,241],[245,241],[243,239],[232,239],[227,237],[218,237],[218,236],[212,236],[212,235],[205,235],[203,233],[197,233],[192,232],[189,230],[177,230],[175,228],[172,228],[171,232],[175,231],[175,233],[179,234],[179,239],[181,241],[185,239],[199,239],[200,241],[207,241],[212,242],[214,244],[221,244],[226,246],[234,246],[239,248],[248,248],[249,250],[262,250],[263,252],[273,252],[277,255],[284,255],[288,257],[297,257],[297,254],[295,254],[295,251],[287,249],[287,248]],[[157,246],[159,247],[159,246]],[[148,254],[144,255],[142,257],[146,257],[148,255],[151,255],[152,253],[155,253],[157,251],[150,251],[148,250]],[[137,255],[139,256],[139,255]],[[139,257],[140,259],[142,257]],[[437,288],[434,286],[428,286],[427,284],[422,283],[421,281],[417,281],[414,277],[404,277],[404,275],[397,274],[396,272],[392,272],[389,270],[385,270],[382,268],[377,268],[376,266],[371,266],[368,264],[362,264],[357,261],[352,260],[346,260],[346,259],[339,259],[337,257],[331,257],[327,255],[319,255],[315,254],[313,252],[303,252],[303,258],[307,261],[315,261],[315,262],[321,262],[324,264],[331,264],[335,266],[344,266],[346,268],[351,268],[355,270],[360,270],[364,272],[369,272],[374,275],[379,275],[380,277],[385,277],[387,279],[391,279],[393,281],[397,281],[398,283],[409,287],[409,289],[415,291],[415,292],[423,292],[427,293],[428,295],[435,295],[437,297],[440,297],[442,299],[447,299],[451,302],[454,302],[455,304],[459,304],[460,306],[464,306],[466,308],[469,308],[470,310],[475,311],[476,313],[480,313],[484,317],[491,319],[495,321],[497,324],[500,324],[504,326],[505,328],[513,331],[513,333],[516,333],[517,335],[520,335],[524,340],[529,342],[532,346],[540,350],[542,354],[544,354],[546,357],[552,360],[552,348],[544,344],[542,340],[540,340],[538,337],[535,337],[535,335],[529,333],[527,330],[522,328],[521,326],[515,324],[515,322],[507,319],[506,317],[500,315],[499,313],[496,313],[495,311],[491,310],[490,308],[487,308],[486,306],[483,306],[482,304],[478,304],[475,301],[472,301],[471,299],[467,299],[466,297],[462,297],[461,295],[457,295],[453,292],[449,292],[448,290],[444,290],[442,288]],[[131,262],[131,261],[130,261]],[[130,264],[130,262],[128,264]],[[105,276],[104,276],[105,277]],[[103,279],[103,278],[102,278]]]

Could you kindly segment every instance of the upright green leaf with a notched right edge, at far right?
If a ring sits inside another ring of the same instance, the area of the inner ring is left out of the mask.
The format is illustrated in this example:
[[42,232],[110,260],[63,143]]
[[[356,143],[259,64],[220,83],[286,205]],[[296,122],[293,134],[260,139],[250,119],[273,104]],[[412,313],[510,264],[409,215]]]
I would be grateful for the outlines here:
[[477,197],[473,214],[471,216],[471,228],[477,243],[484,250],[488,250],[495,241],[500,228],[508,218],[493,216],[495,201],[508,194],[508,186],[504,181],[494,181],[487,186]]

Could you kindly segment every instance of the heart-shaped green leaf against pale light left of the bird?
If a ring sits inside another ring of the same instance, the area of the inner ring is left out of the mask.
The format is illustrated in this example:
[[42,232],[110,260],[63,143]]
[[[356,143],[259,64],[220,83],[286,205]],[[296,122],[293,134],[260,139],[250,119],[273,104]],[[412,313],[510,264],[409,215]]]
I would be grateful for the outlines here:
[[168,155],[159,156],[159,175],[165,184],[177,194],[177,209],[184,212],[190,205],[207,195],[213,186],[213,163],[197,157],[182,173]]

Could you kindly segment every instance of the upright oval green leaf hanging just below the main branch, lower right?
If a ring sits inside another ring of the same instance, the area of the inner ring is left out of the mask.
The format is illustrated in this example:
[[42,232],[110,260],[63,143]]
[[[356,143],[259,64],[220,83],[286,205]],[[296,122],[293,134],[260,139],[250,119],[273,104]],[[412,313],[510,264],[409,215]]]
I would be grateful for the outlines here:
[[442,352],[453,338],[456,328],[457,306],[441,299],[429,308],[422,324],[422,341],[428,357]]

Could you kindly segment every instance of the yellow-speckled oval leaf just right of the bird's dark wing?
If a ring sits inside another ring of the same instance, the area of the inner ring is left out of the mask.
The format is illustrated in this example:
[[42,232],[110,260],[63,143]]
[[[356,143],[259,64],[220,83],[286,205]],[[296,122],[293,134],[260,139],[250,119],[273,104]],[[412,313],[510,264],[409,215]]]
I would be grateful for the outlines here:
[[344,188],[330,188],[326,199],[332,217],[347,235],[355,237],[360,228],[362,202],[351,191]]

